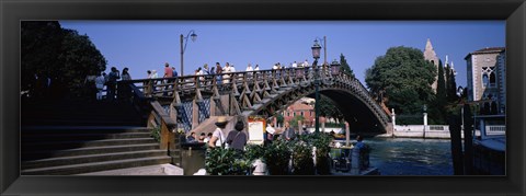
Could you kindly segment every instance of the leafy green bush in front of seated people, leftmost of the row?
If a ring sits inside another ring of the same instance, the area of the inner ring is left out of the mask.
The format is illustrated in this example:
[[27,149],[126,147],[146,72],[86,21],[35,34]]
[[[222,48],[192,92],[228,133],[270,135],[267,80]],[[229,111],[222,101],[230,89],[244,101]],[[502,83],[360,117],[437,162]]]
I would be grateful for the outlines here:
[[231,148],[213,148],[206,153],[205,170],[210,175],[247,175],[251,168],[251,161]]

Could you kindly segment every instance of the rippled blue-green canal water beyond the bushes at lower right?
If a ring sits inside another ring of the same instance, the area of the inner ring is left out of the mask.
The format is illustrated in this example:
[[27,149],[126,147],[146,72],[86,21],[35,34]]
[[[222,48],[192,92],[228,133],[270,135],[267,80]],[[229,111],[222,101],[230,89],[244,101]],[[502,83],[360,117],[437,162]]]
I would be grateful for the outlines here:
[[453,175],[448,139],[366,138],[381,175]]

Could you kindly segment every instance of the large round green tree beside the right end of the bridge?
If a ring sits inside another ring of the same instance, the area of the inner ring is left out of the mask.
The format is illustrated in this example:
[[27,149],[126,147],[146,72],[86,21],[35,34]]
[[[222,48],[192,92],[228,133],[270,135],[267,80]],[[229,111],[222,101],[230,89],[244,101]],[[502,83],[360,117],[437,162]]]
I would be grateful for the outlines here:
[[431,84],[436,69],[420,49],[391,47],[366,70],[370,93],[398,114],[421,114],[422,106],[434,100]]

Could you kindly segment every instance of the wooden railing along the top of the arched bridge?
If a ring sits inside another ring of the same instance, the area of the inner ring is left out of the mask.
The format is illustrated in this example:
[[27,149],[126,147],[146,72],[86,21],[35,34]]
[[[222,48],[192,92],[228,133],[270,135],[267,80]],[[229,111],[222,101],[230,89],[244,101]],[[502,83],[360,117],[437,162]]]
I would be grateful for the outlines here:
[[[317,72],[318,71],[318,72]],[[282,88],[302,85],[312,87],[316,74],[320,76],[323,85],[332,85],[333,82],[343,82],[350,87],[352,91],[374,111],[382,123],[388,123],[390,119],[381,107],[370,97],[366,88],[354,77],[340,71],[335,67],[319,67],[313,69],[307,68],[284,68],[276,70],[253,70],[253,71],[236,71],[222,72],[216,74],[194,74],[172,78],[156,78],[156,79],[140,79],[119,81],[119,83],[132,84],[134,92],[141,92],[142,96],[150,99],[164,99],[175,104],[181,104],[184,95],[191,95],[191,99],[196,101],[203,100],[202,92],[213,94],[217,97],[219,94],[233,95],[239,102],[238,105],[231,108],[233,114],[239,115],[243,109],[251,108],[258,100],[254,97],[253,91],[266,91],[276,93]],[[121,85],[119,85],[121,87]],[[125,85],[127,87],[127,85]],[[121,88],[117,94],[124,99],[129,97],[128,93],[122,93]],[[240,92],[241,90],[241,92]],[[129,92],[126,90],[125,92]],[[250,96],[244,96],[250,94]],[[188,97],[184,97],[188,99]],[[261,97],[263,99],[263,97]],[[261,101],[260,99],[260,101]],[[229,111],[232,111],[229,109]],[[179,114],[179,113],[178,113]],[[232,114],[232,113],[230,113]]]

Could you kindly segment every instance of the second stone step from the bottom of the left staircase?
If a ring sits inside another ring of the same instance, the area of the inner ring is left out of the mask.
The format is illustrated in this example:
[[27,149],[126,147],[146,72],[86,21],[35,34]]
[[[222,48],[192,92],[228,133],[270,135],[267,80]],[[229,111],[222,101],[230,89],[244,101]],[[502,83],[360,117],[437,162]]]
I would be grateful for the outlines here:
[[61,166],[61,165],[81,164],[81,163],[104,162],[104,161],[112,161],[112,160],[162,157],[167,154],[168,154],[167,150],[145,150],[145,151],[133,151],[133,152],[115,152],[115,153],[102,153],[102,154],[48,158],[48,159],[41,159],[41,160],[33,160],[33,161],[23,161],[22,170],[52,168],[52,166]]

